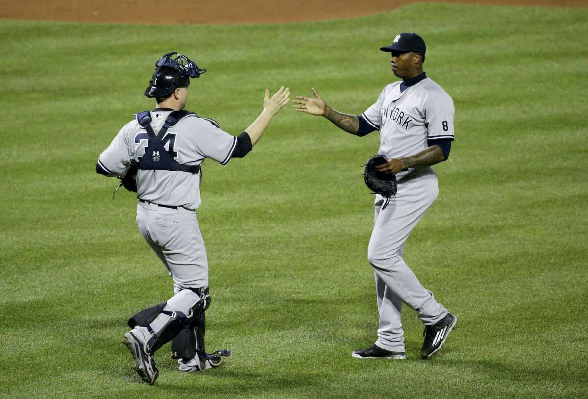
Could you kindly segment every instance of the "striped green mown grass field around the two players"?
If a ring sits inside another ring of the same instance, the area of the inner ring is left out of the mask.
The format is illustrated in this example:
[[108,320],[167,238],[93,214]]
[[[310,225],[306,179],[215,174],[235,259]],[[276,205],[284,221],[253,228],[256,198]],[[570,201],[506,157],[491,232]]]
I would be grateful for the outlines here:
[[[426,18],[425,18],[426,16]],[[418,4],[356,19],[155,26],[0,21],[2,398],[587,397],[588,9]],[[126,318],[172,292],[136,198],[95,174],[168,51],[209,71],[188,109],[239,134],[263,89],[315,87],[360,114],[395,80],[379,46],[427,41],[456,141],[405,259],[459,319],[436,357],[405,307],[406,361],[361,361],[376,338],[366,251],[379,145],[286,108],[245,159],[204,164],[207,347],[222,367],[140,383]],[[582,39],[584,38],[584,39]]]

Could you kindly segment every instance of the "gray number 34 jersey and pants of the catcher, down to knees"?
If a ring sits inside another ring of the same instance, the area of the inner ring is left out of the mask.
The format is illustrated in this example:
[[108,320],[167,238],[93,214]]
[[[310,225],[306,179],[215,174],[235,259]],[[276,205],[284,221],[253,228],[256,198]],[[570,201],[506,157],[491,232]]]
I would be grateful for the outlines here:
[[[172,110],[163,108],[151,111],[151,126],[155,132],[162,128],[170,112]],[[148,138],[145,129],[133,119],[98,157],[99,166],[111,175],[125,175],[131,162],[139,162],[145,154]],[[170,127],[162,142],[179,163],[201,165],[205,158],[221,164],[229,162],[237,139],[220,129],[212,119],[190,114]],[[178,289],[208,286],[208,259],[194,212],[201,204],[201,176],[202,171],[193,174],[139,169],[137,172],[137,197],[141,200],[137,204],[139,231]]]

